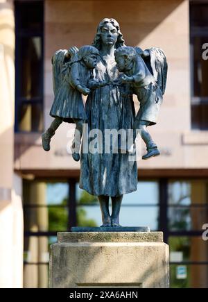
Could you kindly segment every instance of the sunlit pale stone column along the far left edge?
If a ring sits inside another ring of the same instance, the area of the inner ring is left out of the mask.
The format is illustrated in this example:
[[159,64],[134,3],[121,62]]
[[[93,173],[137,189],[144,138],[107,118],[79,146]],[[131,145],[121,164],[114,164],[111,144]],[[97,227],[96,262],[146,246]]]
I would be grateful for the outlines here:
[[0,287],[22,287],[21,178],[14,174],[15,18],[0,1]]

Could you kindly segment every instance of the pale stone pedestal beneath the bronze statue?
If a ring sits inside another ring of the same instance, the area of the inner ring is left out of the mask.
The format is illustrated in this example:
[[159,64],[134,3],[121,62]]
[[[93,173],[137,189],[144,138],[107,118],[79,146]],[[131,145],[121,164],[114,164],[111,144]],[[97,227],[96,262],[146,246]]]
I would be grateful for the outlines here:
[[49,287],[169,287],[162,232],[58,233]]

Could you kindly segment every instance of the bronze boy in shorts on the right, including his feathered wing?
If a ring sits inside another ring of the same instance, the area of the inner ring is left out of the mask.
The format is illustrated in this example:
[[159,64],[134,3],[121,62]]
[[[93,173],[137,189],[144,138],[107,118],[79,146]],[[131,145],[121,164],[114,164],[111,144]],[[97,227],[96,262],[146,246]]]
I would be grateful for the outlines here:
[[[153,141],[147,127],[157,123],[162,94],[166,87],[166,57],[162,49],[155,47],[146,51],[142,51],[139,47],[120,47],[114,54],[119,72],[124,73],[120,78],[121,83],[126,84],[126,90],[130,94],[137,95],[140,103],[133,128],[135,131],[137,129],[141,131],[141,138],[146,144],[147,153],[142,158],[147,160],[159,156],[157,144]],[[136,133],[134,141],[135,139]],[[134,151],[134,145],[128,151]]]

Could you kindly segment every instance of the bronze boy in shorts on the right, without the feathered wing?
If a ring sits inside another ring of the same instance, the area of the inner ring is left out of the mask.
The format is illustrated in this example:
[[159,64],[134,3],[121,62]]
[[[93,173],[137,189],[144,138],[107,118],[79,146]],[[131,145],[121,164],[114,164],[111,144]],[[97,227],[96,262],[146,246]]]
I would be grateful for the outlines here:
[[[147,126],[157,123],[159,108],[162,103],[162,89],[157,85],[155,77],[150,72],[141,56],[145,56],[147,51],[142,51],[137,47],[120,47],[116,49],[114,55],[116,66],[119,72],[123,72],[120,81],[125,83],[131,94],[136,94],[140,103],[140,108],[135,117],[133,129],[141,131],[141,137],[146,144],[147,153],[142,156],[144,160],[153,156],[159,156],[157,145],[153,141]],[[147,55],[148,56],[148,53]],[[134,131],[134,142],[136,133]],[[132,152],[134,146],[128,150]]]

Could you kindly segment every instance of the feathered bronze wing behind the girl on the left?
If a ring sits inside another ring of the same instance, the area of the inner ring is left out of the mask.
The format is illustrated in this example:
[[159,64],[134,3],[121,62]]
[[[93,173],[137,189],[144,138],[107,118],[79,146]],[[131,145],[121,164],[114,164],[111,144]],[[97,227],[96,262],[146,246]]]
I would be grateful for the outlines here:
[[66,54],[67,49],[59,49],[55,51],[52,57],[52,69],[53,69],[53,92],[54,95],[58,92],[58,89],[62,83],[65,75],[66,68]]

